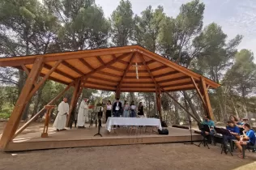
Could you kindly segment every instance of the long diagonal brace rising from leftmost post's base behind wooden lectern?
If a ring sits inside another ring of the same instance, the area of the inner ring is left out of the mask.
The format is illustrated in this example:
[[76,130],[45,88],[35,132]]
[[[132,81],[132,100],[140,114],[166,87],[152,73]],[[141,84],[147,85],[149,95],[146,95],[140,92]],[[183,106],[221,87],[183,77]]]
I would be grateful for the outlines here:
[[[70,83],[62,92],[60,92],[60,93],[58,94],[58,96],[55,96],[55,97],[53,98],[53,100],[51,100],[51,101],[50,101],[48,104],[46,104],[46,105],[52,105],[56,100],[58,100],[61,96],[63,96],[63,94],[64,94],[68,89],[70,89],[70,87],[71,87],[72,85],[73,85],[73,83]],[[27,121],[23,126],[21,126],[21,127],[19,128],[19,130],[16,131],[14,138],[15,138],[16,136],[18,136],[23,130],[25,130],[25,129],[28,127],[28,125],[30,125],[33,121],[35,121],[37,117],[39,117],[42,113],[44,113],[44,111],[45,111],[45,108],[42,108],[38,113],[36,113],[33,117],[31,117],[31,118],[29,119],[29,121]]]

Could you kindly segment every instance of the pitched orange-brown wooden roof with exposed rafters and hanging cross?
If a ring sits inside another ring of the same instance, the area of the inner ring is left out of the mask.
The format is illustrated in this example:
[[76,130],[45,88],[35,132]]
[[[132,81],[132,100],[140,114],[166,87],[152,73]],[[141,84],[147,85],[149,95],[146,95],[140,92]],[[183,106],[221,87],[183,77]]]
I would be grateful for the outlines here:
[[[160,86],[165,91],[195,89],[195,83],[205,79],[208,87],[220,84],[204,78],[175,62],[144,49],[139,45],[114,47],[108,49],[89,49],[65,53],[49,53],[25,57],[2,57],[0,66],[12,66],[31,70],[36,57],[43,57],[41,75],[62,60],[49,79],[69,84],[81,77],[84,87],[106,91],[156,91]],[[135,63],[139,65],[139,79],[136,79]],[[191,79],[193,78],[193,79]]]

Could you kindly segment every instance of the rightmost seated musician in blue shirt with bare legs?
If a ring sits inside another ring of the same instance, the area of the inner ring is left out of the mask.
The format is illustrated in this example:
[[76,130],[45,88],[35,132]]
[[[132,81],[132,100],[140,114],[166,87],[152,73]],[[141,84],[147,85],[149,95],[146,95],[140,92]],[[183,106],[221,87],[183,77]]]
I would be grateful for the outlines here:
[[[242,151],[242,145],[251,147],[254,146],[256,142],[255,132],[250,128],[250,125],[248,123],[245,123],[245,125],[243,125],[243,128],[243,138],[241,138],[240,141],[236,142],[236,145],[239,148],[240,152]],[[241,157],[242,155],[240,154],[238,156]]]

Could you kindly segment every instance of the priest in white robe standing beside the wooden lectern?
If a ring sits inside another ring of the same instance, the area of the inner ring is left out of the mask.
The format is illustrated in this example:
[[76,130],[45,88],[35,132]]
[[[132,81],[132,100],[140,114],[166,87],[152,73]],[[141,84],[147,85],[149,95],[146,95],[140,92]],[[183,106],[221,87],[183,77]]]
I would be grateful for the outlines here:
[[58,104],[58,115],[55,118],[55,121],[53,123],[53,127],[55,127],[57,129],[57,131],[59,130],[66,130],[65,126],[66,126],[66,117],[69,113],[69,105],[67,103],[67,99],[64,98],[62,103]]

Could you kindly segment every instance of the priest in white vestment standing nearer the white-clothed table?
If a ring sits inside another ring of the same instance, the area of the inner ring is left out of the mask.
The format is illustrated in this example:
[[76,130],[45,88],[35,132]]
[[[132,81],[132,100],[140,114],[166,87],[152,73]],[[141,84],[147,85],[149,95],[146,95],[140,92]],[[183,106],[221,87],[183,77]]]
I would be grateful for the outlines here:
[[81,102],[80,107],[79,107],[79,114],[77,116],[77,126],[79,129],[85,128],[84,127],[85,122],[89,121],[87,101],[88,101],[88,99],[85,98]]

